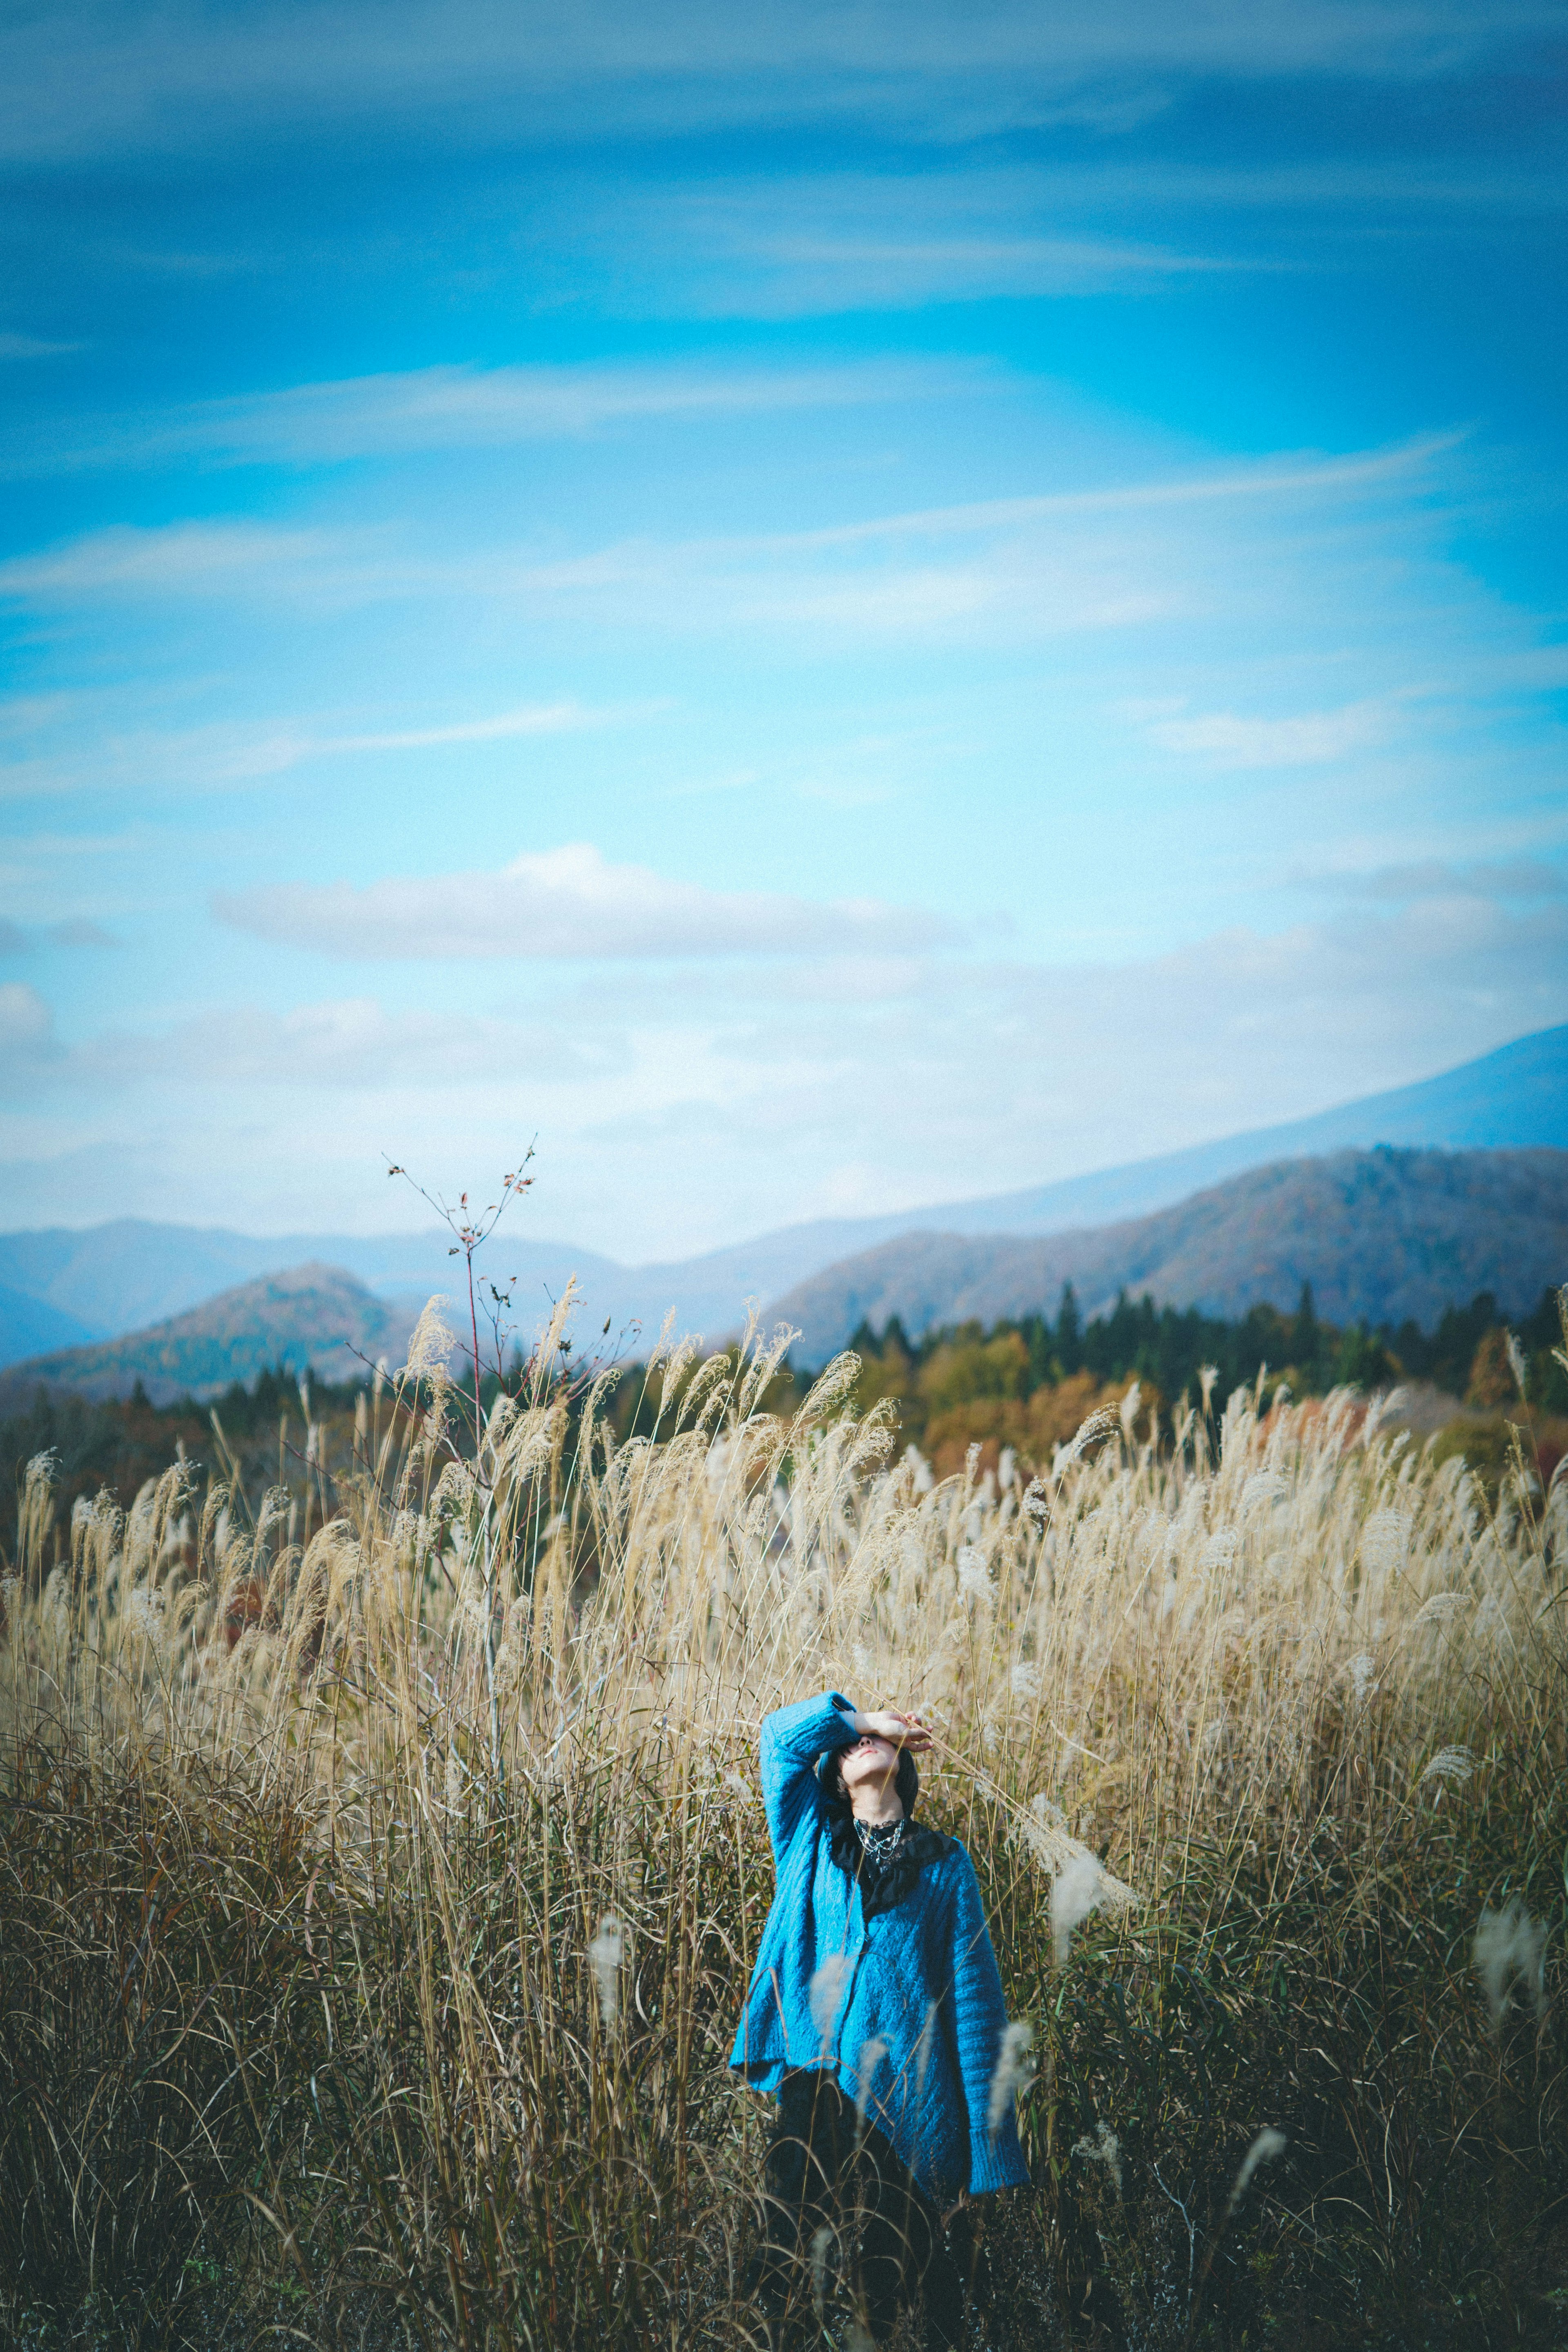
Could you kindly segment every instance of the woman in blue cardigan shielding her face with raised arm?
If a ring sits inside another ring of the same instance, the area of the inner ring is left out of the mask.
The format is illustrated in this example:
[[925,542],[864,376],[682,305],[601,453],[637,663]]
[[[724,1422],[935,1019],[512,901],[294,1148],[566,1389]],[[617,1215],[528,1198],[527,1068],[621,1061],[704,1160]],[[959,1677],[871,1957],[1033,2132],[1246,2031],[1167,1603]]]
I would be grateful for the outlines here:
[[992,2100],[1006,2013],[973,1863],[912,1818],[929,1745],[839,1691],[764,1722],[776,1886],[729,2063],[778,2093],[752,2272],[769,2319],[820,2300],[842,2234],[872,2336],[924,2286],[926,2343],[947,2347],[966,2249],[943,2209],[1030,2176],[1013,2100]]

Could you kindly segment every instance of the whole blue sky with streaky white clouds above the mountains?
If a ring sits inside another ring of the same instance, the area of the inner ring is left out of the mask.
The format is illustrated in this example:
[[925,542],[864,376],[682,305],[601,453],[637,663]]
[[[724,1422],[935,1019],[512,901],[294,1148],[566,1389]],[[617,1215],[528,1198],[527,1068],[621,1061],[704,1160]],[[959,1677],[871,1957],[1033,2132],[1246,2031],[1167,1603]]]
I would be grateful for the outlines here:
[[0,33],[0,1223],[616,1256],[1568,1018],[1561,7]]

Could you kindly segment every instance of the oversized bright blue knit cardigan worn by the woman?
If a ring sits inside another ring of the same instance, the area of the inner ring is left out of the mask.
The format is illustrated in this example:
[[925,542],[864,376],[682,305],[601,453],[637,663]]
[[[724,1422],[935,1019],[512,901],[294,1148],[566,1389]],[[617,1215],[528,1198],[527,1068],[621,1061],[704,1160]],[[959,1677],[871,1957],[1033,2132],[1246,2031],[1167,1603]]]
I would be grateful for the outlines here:
[[776,1889],[729,2063],[759,2091],[792,2067],[827,2067],[938,2199],[1018,2187],[1030,2173],[1011,2098],[987,2131],[1006,2011],[966,1849],[950,1839],[903,1903],[870,1922],[830,1856],[816,1764],[853,1745],[853,1712],[825,1691],[762,1726]]

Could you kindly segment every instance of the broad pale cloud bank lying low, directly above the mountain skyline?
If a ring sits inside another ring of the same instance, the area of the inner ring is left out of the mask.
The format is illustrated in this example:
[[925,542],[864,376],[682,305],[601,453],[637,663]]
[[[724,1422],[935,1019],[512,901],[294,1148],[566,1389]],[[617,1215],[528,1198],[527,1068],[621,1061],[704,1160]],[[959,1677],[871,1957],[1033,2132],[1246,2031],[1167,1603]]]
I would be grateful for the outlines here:
[[19,1025],[42,1058],[31,1077],[16,1051],[5,1063],[59,1108],[0,1122],[9,1216],[59,1214],[21,1160],[94,1141],[71,1178],[82,1221],[277,1230],[376,1223],[381,1148],[456,1188],[538,1134],[536,1230],[628,1261],[966,1200],[1295,1117],[1559,1023],[1568,903],[1359,906],[1114,967],[907,955],[802,976],[541,978],[522,1011],[233,1007],[92,1037],[63,1068],[33,1000]]

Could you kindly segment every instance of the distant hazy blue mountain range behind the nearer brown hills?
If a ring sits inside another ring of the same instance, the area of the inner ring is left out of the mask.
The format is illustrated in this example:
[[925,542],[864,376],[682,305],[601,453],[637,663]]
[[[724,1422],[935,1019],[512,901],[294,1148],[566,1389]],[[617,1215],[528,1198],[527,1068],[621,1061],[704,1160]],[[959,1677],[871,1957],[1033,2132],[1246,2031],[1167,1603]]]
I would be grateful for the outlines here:
[[[571,1242],[524,1240],[503,1228],[489,1263],[517,1275],[520,1303],[538,1315],[576,1272],[585,1324],[609,1315],[611,1329],[639,1324],[646,1334],[675,1308],[682,1329],[719,1338],[738,1327],[748,1298],[785,1305],[827,1268],[907,1235],[1030,1240],[1077,1232],[1150,1216],[1246,1169],[1375,1143],[1446,1150],[1568,1143],[1568,1025],[1519,1037],[1415,1087],[1023,1192],[818,1218],[654,1265],[621,1265]],[[214,1294],[301,1265],[336,1268],[388,1301],[454,1287],[442,1228],[371,1237],[247,1235],[120,1218],[82,1230],[9,1232],[0,1235],[0,1367],[169,1322]],[[635,1331],[628,1341],[635,1345]]]

